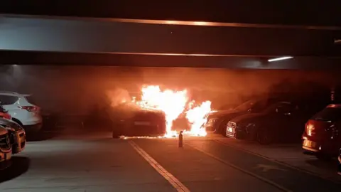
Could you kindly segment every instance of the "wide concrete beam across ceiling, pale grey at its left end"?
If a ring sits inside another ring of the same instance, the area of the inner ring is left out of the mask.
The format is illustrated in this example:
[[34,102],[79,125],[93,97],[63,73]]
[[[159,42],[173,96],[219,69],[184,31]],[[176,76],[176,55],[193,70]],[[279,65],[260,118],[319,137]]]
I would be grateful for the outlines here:
[[341,31],[0,17],[1,50],[72,53],[338,56]]

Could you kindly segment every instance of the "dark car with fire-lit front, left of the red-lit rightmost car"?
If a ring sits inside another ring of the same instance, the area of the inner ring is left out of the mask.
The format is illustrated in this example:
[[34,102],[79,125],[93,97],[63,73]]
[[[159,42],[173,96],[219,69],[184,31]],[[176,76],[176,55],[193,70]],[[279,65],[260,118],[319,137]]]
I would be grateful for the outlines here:
[[251,139],[260,144],[299,141],[310,113],[294,102],[276,102],[262,112],[244,114],[229,121],[226,136]]

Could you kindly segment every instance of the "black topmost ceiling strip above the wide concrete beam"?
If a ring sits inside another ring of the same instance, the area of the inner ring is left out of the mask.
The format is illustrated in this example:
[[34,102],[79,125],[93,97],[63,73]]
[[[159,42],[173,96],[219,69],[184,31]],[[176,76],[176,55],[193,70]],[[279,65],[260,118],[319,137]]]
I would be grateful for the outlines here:
[[341,1],[13,1],[3,14],[341,26]]

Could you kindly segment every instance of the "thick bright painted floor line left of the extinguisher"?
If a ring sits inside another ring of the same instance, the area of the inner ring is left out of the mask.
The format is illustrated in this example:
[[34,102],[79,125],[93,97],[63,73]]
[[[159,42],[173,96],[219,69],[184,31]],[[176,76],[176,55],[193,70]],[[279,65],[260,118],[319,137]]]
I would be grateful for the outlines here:
[[178,178],[175,178],[171,173],[169,173],[166,169],[163,168],[158,162],[153,159],[150,155],[147,154],[144,149],[141,149],[139,145],[137,145],[132,140],[129,140],[129,144],[133,146],[133,148],[144,158],[146,161],[153,166],[153,168],[158,171],[158,174],[161,174],[163,178],[166,178],[166,180],[171,183],[171,185],[177,190],[177,191],[183,191],[183,192],[190,192],[190,190],[181,183]]

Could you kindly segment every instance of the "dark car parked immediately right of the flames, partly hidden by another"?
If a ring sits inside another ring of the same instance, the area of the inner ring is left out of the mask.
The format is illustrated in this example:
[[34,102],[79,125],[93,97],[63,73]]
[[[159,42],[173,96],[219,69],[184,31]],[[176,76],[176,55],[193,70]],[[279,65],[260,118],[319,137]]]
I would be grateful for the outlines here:
[[229,122],[229,120],[243,114],[261,112],[266,107],[269,107],[269,105],[277,101],[278,100],[276,98],[259,98],[244,102],[242,105],[235,107],[234,110],[212,112],[208,115],[207,122],[204,127],[207,132],[215,132],[225,135],[227,122]]

